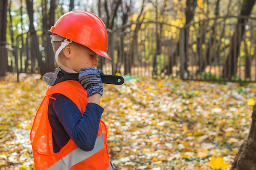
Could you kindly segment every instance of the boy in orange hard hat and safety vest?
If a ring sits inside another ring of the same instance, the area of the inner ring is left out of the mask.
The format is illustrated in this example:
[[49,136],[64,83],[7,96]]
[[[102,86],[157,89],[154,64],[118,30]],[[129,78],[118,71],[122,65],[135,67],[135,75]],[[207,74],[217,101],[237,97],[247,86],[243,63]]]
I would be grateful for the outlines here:
[[[64,14],[49,30],[58,67],[79,73],[49,86],[30,132],[36,170],[115,170],[101,121],[103,84],[97,55],[107,55],[108,36],[91,12]],[[110,59],[111,60],[111,59]]]

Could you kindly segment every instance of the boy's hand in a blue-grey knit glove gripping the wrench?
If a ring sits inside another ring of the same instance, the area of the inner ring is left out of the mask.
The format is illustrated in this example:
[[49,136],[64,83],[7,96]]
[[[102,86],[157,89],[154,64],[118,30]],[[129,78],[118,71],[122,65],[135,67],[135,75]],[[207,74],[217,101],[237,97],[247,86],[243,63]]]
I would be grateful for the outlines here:
[[79,72],[79,82],[82,87],[87,91],[87,97],[93,94],[103,94],[103,84],[101,81],[101,74],[103,72],[100,69],[95,68],[82,68]]

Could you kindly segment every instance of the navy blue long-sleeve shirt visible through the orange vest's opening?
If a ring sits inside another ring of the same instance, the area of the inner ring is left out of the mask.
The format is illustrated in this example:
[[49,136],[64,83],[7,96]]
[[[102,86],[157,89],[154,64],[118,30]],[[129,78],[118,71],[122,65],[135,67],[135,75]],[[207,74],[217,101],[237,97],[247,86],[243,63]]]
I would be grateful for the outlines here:
[[60,152],[71,139],[84,151],[94,148],[104,109],[95,103],[88,103],[84,114],[72,100],[63,94],[52,94],[56,100],[50,99],[48,119],[52,127],[53,151]]

